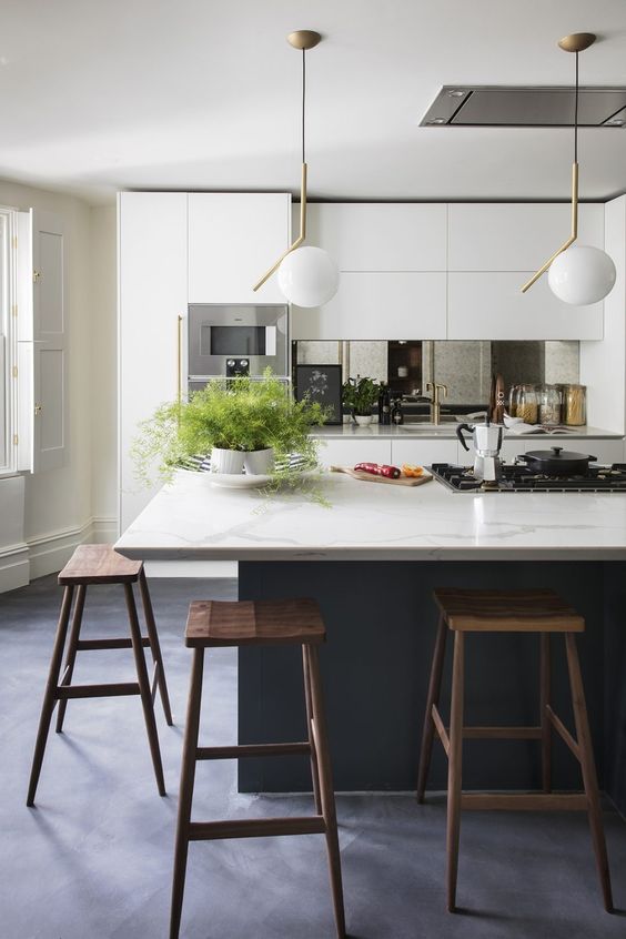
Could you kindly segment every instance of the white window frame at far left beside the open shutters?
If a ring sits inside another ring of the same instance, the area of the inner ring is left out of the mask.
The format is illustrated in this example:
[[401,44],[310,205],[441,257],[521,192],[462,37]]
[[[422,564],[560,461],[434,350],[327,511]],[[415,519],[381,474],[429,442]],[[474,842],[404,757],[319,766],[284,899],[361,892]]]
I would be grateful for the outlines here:
[[[0,264],[6,276],[2,277],[0,295],[0,319],[4,335],[4,413],[0,414],[6,432],[6,461],[0,462],[0,478],[18,473],[18,306],[17,306],[17,234],[18,210],[10,205],[0,205],[0,216],[6,219],[7,239],[4,250],[0,252]],[[0,453],[0,460],[2,454]]]

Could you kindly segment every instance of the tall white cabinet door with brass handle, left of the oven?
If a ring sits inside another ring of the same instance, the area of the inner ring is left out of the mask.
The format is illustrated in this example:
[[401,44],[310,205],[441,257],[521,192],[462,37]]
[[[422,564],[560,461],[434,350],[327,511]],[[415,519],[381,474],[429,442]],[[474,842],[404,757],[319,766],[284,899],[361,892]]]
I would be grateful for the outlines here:
[[134,477],[138,424],[178,394],[176,333],[186,315],[186,193],[119,196],[120,516],[124,531],[153,496]]

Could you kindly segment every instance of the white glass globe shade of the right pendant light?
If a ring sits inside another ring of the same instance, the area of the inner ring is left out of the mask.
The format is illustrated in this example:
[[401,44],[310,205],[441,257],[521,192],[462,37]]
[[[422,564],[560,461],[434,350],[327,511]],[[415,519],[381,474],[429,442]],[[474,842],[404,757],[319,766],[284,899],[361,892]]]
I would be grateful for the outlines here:
[[588,244],[573,244],[552,262],[552,292],[573,306],[597,303],[615,285],[615,264],[605,251]]

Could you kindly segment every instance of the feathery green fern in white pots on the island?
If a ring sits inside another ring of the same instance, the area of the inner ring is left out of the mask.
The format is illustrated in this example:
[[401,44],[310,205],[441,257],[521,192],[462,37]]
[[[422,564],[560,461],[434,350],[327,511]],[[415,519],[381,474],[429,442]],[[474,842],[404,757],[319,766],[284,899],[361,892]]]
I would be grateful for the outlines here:
[[301,466],[314,466],[317,444],[310,431],[326,416],[317,403],[294,401],[270,371],[261,380],[212,381],[140,424],[132,445],[135,473],[148,484],[154,471],[166,481],[178,467],[209,455],[211,472],[220,474],[276,473],[274,466],[284,466],[293,453]]

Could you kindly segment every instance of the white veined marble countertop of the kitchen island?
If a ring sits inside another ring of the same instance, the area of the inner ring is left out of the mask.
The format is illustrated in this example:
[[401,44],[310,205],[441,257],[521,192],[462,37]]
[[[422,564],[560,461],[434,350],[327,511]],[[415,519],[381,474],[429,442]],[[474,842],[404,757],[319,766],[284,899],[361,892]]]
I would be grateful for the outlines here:
[[326,508],[180,472],[115,548],[144,561],[626,559],[626,494],[453,493],[326,473]]

